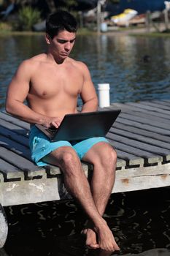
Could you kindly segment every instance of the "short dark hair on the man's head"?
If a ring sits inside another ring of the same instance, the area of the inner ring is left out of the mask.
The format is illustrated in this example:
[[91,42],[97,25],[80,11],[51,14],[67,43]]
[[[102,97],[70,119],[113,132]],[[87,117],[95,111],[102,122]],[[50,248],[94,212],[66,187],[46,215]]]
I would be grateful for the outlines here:
[[72,14],[64,10],[52,13],[46,20],[46,33],[51,39],[58,35],[59,31],[77,31],[77,21]]

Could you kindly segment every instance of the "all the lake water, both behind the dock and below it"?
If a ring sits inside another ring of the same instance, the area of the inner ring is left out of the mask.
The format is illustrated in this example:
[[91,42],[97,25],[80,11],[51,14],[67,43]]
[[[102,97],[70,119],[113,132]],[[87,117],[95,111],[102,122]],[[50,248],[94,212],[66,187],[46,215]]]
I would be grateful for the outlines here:
[[[43,36],[0,37],[1,110],[20,61],[45,50]],[[169,50],[166,37],[103,34],[77,37],[72,57],[88,64],[95,86],[110,84],[111,102],[134,102],[170,98]],[[80,230],[85,216],[74,201],[12,206],[5,211],[9,236],[0,256],[99,255],[83,246]],[[112,195],[104,217],[121,248],[112,255],[170,255],[169,216],[169,188]]]

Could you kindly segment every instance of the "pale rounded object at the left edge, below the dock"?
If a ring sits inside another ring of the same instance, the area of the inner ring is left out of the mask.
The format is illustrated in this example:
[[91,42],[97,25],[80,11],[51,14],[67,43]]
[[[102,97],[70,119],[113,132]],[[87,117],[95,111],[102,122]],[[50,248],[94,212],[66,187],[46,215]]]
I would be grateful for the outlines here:
[[7,240],[8,225],[4,208],[0,204],[0,248],[2,248]]

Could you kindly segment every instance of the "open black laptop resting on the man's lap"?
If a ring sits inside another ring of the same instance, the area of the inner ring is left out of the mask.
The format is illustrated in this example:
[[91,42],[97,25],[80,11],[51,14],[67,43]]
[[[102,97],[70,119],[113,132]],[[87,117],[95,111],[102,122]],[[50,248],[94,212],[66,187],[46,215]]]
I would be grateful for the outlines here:
[[88,113],[67,114],[57,128],[36,124],[52,141],[84,140],[107,135],[121,110],[102,110]]

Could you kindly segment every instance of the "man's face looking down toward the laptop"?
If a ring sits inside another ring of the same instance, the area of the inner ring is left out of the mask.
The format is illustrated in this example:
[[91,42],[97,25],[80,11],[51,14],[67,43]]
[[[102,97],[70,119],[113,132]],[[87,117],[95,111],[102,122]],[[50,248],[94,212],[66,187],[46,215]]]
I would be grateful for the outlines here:
[[56,58],[66,59],[72,51],[75,39],[75,33],[63,30],[53,37],[53,39],[49,39],[47,43]]

